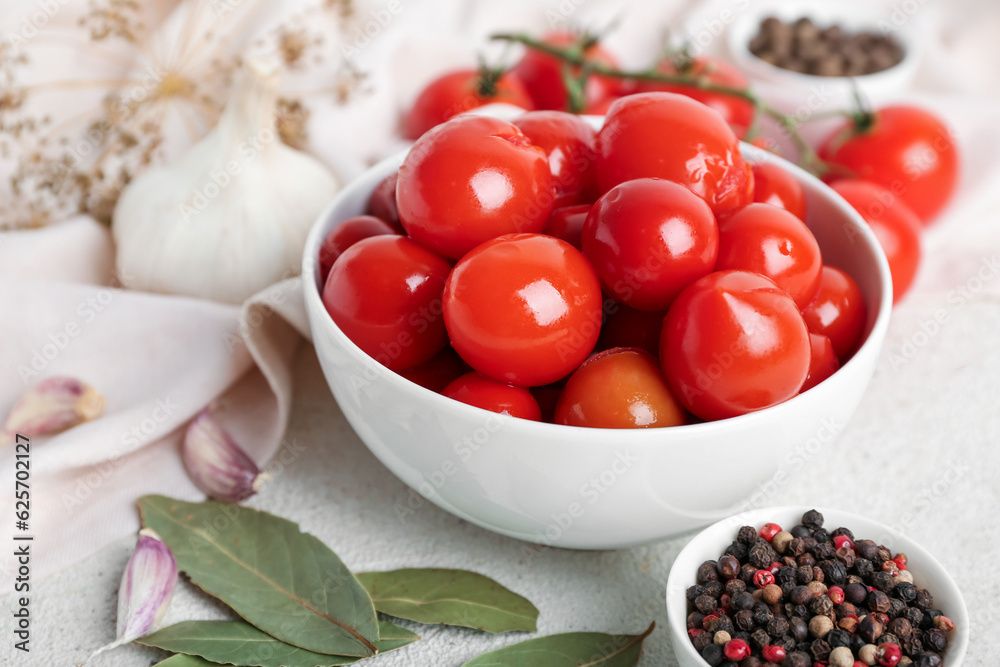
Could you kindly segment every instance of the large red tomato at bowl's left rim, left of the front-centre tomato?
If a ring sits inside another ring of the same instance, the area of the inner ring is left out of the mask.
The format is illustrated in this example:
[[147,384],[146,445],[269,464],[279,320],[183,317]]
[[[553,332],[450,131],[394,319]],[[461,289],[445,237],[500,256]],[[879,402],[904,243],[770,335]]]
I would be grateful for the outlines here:
[[447,344],[441,294],[451,265],[405,236],[355,243],[333,265],[323,305],[355,345],[390,370]]

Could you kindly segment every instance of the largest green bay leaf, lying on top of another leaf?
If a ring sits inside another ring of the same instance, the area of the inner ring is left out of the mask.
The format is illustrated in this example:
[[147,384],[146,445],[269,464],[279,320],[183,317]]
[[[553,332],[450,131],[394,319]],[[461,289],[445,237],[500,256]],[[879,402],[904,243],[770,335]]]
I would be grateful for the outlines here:
[[249,507],[139,499],[143,525],[170,547],[192,583],[267,634],[316,653],[375,653],[368,593],[318,538]]

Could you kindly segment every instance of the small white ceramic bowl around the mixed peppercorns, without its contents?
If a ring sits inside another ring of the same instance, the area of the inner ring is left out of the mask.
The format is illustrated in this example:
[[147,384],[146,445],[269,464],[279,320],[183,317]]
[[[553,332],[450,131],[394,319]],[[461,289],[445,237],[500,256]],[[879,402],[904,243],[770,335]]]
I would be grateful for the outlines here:
[[[811,507],[769,507],[756,509],[728,517],[698,533],[677,555],[667,578],[667,624],[670,626],[670,640],[680,667],[705,667],[687,634],[687,597],[685,591],[695,584],[698,566],[706,560],[718,560],[726,547],[736,539],[741,526],[760,529],[773,521],[790,529],[800,523],[802,515]],[[955,631],[949,636],[949,645],[944,653],[944,667],[959,667],[965,659],[969,647],[969,611],[955,581],[922,546],[893,531],[889,526],[856,514],[839,510],[818,509],[825,519],[823,526],[828,530],[844,526],[850,528],[859,540],[870,539],[883,542],[893,553],[903,552],[907,556],[907,569],[913,573],[914,584],[926,588],[934,596],[934,606],[955,622]]]

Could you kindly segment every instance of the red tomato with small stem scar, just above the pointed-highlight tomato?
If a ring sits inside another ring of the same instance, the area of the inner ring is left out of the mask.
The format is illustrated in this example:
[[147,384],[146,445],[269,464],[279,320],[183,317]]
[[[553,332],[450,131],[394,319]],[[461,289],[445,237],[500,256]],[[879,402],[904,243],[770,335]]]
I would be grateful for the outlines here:
[[716,269],[767,276],[804,308],[819,289],[823,258],[816,237],[797,217],[770,204],[750,204],[719,224]]

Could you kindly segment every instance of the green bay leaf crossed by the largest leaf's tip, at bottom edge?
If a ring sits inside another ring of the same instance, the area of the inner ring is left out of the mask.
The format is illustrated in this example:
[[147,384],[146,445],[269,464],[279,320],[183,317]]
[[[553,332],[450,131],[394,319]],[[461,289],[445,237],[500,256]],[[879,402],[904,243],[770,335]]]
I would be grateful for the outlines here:
[[[420,639],[406,628],[379,621],[379,653],[402,648]],[[199,656],[212,663],[241,667],[336,667],[362,658],[314,653],[280,642],[243,621],[183,621],[140,637],[146,646]],[[211,663],[209,663],[211,664]]]

